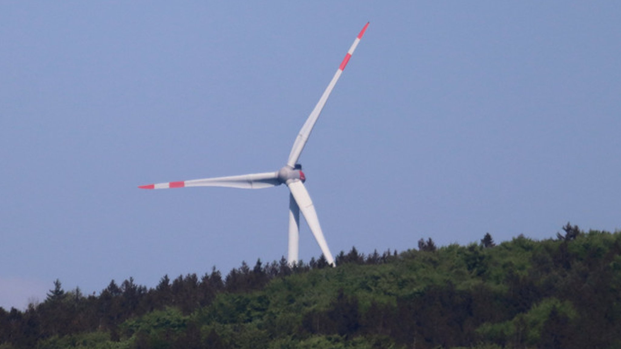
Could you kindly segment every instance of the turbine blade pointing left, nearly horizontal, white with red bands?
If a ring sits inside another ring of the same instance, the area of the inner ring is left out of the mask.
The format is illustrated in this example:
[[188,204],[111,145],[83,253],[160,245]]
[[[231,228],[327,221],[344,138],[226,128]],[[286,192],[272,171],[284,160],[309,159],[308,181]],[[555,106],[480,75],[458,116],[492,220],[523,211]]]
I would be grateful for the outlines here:
[[242,174],[217,178],[194,179],[192,181],[167,182],[138,186],[140,189],[167,189],[198,186],[230,187],[242,189],[260,189],[279,185],[278,172]]

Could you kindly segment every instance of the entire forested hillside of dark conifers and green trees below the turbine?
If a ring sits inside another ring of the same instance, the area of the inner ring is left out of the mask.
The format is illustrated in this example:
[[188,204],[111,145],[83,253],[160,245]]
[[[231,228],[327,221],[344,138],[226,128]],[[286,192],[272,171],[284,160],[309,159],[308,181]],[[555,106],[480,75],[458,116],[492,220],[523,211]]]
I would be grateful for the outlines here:
[[621,233],[566,225],[554,239],[341,253],[211,270],[147,289],[112,281],[22,311],[9,348],[621,348]]

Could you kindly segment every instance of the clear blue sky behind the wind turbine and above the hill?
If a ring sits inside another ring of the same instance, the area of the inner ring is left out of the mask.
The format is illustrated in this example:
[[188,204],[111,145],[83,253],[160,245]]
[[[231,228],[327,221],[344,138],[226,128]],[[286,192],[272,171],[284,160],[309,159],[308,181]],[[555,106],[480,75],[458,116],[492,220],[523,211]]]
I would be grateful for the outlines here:
[[619,2],[4,2],[0,306],[286,255],[285,186],[137,186],[278,170],[368,21],[300,158],[333,253],[621,228]]

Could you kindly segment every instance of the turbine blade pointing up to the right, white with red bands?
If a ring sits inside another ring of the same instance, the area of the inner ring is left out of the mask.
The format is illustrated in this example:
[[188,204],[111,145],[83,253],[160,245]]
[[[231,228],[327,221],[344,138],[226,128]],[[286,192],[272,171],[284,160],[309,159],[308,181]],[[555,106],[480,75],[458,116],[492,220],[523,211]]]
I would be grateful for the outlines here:
[[319,102],[317,102],[315,109],[312,110],[311,115],[309,115],[308,119],[306,119],[306,122],[304,122],[304,126],[302,126],[300,133],[297,135],[296,141],[293,143],[291,153],[289,153],[289,160],[287,161],[287,165],[289,165],[289,167],[293,168],[296,165],[297,159],[299,159],[300,154],[304,149],[304,145],[306,145],[306,141],[311,136],[312,128],[315,126],[315,122],[317,122],[317,119],[319,119],[319,114],[321,114],[322,109],[324,109],[325,102],[328,101],[328,97],[330,97],[332,89],[334,88],[335,84],[337,84],[338,78],[340,78],[341,74],[343,73],[345,66],[347,66],[347,62],[350,60],[351,55],[353,55],[354,50],[356,50],[356,47],[358,47],[358,43],[360,42],[360,39],[362,39],[362,35],[365,34],[365,30],[368,26],[369,24],[367,23],[365,27],[360,30],[360,34],[358,34],[358,37],[356,37],[356,40],[354,40],[349,51],[347,52],[347,55],[345,55],[345,58],[343,58],[341,65],[338,67],[337,72],[334,74],[332,81],[330,81],[330,83],[328,84],[328,87],[325,89],[324,94],[322,94],[321,98],[319,99]]

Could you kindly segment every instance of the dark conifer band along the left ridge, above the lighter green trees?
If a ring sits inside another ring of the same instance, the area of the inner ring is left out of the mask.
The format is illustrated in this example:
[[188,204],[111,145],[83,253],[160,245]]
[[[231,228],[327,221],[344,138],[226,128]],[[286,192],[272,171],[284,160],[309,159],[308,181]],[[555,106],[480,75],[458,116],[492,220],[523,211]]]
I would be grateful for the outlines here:
[[[390,250],[381,255],[374,252],[365,256],[354,247],[347,254],[339,253],[335,259],[338,264],[379,264],[396,256],[397,252]],[[265,266],[257,260],[252,269],[242,262],[240,268],[233,268],[225,278],[215,267],[200,278],[192,273],[179,275],[171,281],[165,275],[152,289],[135,284],[133,278],[120,285],[113,279],[99,296],[84,296],[79,287],[66,292],[57,279],[47,299],[40,304],[29,304],[24,312],[15,308],[7,312],[0,307],[0,349],[33,348],[43,338],[97,330],[110,333],[112,340],[119,340],[119,325],[132,317],[166,307],[175,307],[181,310],[181,314],[188,315],[209,306],[221,292],[252,292],[274,278],[329,267],[324,255],[317,260],[311,258],[309,263],[299,261],[294,265],[289,265],[284,257]]]

